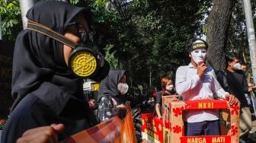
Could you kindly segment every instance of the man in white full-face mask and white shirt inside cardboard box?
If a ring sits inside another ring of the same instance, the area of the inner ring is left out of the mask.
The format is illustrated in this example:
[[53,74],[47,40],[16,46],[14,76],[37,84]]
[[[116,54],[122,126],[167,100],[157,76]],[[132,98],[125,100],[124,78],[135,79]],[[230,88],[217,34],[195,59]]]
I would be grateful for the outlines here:
[[[207,44],[204,40],[193,39],[188,43],[190,64],[176,71],[176,91],[183,100],[226,99],[229,104],[238,100],[227,93],[216,81],[213,68],[204,63]],[[185,110],[186,135],[219,135],[219,110]]]

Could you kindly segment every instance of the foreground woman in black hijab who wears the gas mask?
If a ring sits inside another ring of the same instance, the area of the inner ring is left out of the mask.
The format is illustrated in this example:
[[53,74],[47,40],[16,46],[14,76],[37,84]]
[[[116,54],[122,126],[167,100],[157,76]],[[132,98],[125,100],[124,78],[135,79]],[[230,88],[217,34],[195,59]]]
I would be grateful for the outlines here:
[[[89,12],[67,2],[37,2],[27,12],[29,21],[43,24],[74,43],[80,43],[78,22],[88,31]],[[82,79],[69,71],[72,48],[34,30],[19,33],[15,47],[12,91],[15,98],[2,143],[15,142],[27,129],[62,123],[59,140],[91,127],[83,102]]]

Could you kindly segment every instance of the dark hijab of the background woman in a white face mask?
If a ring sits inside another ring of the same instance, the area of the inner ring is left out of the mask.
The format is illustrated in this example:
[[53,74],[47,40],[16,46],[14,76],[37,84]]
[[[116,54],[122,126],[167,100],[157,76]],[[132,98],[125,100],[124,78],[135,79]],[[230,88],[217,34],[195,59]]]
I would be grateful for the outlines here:
[[120,97],[120,93],[117,89],[117,84],[119,83],[122,76],[125,74],[125,70],[122,69],[110,69],[106,78],[101,81],[100,90],[98,92],[98,101],[101,97],[113,97],[117,100],[117,103],[123,103]]

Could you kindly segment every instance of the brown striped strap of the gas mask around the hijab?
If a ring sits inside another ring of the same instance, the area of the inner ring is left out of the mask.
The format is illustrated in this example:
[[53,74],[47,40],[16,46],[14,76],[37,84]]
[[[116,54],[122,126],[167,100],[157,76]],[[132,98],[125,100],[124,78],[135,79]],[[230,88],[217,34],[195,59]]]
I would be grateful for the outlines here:
[[42,24],[38,24],[37,22],[34,21],[27,21],[27,29],[37,31],[39,33],[43,33],[47,37],[51,37],[54,40],[59,41],[60,43],[63,43],[64,45],[72,47],[72,49],[75,49],[78,44],[73,43],[70,41],[68,38],[64,37],[62,34],[57,33],[54,30],[51,30],[49,27],[46,27]]

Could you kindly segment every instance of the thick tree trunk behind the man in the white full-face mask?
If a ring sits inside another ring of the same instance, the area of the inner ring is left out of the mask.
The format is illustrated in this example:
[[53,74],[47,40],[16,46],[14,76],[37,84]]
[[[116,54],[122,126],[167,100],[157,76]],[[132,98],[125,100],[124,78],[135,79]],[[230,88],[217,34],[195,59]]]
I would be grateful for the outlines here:
[[207,20],[207,64],[215,70],[225,68],[226,43],[232,17],[232,0],[214,0]]

